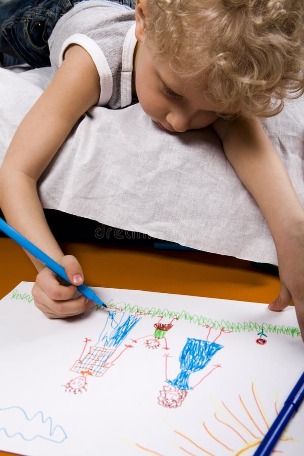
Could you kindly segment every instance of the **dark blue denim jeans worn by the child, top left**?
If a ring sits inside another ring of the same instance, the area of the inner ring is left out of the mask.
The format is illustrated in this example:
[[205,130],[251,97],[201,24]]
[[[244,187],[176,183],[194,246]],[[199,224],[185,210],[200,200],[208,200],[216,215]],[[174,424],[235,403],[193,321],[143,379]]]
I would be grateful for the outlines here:
[[[10,0],[0,5],[0,62],[50,66],[49,37],[60,17],[80,0]],[[135,8],[135,0],[112,0]]]

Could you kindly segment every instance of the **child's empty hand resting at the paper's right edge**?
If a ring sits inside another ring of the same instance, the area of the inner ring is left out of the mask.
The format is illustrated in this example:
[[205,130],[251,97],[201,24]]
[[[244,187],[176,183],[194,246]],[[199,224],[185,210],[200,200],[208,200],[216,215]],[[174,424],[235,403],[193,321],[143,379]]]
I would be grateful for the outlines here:
[[293,300],[298,324],[304,341],[304,223],[299,224],[277,246],[280,294],[269,305],[273,311],[282,311]]

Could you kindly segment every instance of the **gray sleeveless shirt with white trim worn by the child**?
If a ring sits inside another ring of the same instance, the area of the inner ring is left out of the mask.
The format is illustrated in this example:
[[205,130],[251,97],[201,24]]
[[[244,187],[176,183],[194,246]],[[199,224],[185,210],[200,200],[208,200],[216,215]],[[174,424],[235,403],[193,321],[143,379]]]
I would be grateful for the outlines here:
[[57,70],[71,44],[82,46],[100,77],[98,105],[112,109],[132,101],[134,10],[107,0],[86,0],[64,14],[49,39],[50,60]]

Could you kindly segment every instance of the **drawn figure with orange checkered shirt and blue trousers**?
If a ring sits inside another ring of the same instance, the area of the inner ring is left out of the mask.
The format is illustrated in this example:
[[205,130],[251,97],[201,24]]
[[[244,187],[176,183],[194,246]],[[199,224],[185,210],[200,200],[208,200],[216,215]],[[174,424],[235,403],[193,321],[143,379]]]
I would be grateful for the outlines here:
[[131,345],[126,345],[120,354],[109,360],[118,347],[125,340],[132,328],[141,320],[141,317],[128,314],[125,312],[108,311],[105,325],[99,334],[95,346],[90,347],[89,353],[85,355],[88,342],[91,339],[86,337],[83,351],[71,367],[71,371],[79,372],[81,375],[73,378],[68,382],[65,391],[73,392],[74,394],[82,393],[86,390],[87,375],[101,377]]

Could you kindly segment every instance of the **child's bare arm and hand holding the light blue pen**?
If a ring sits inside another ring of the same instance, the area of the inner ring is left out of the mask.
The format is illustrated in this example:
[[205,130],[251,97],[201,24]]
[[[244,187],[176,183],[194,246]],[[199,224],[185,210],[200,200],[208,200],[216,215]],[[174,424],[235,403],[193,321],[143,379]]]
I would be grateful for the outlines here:
[[[83,282],[82,269],[76,258],[64,256],[54,239],[36,183],[75,123],[97,103],[99,93],[93,60],[80,46],[69,47],[54,79],[18,127],[0,168],[0,205],[7,221],[62,264],[75,285]],[[65,317],[87,308],[84,296],[71,299],[75,287],[61,286],[39,260],[31,259],[41,271],[33,288],[35,304],[47,316]]]

